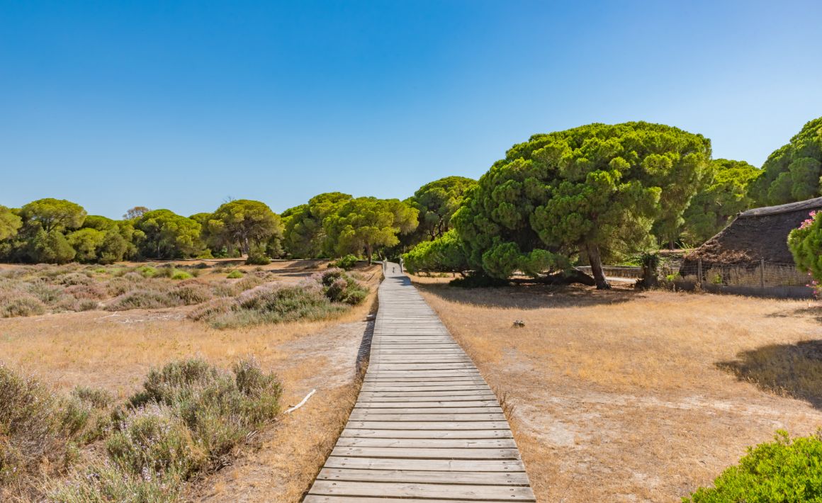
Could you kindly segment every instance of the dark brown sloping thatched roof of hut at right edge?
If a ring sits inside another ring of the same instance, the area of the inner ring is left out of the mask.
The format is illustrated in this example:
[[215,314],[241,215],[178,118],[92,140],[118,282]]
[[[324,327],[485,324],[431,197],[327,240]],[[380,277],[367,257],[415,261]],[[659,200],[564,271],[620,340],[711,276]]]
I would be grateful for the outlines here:
[[702,259],[703,265],[792,264],[787,234],[799,227],[808,214],[822,210],[822,197],[743,211],[731,224],[686,256],[686,264]]

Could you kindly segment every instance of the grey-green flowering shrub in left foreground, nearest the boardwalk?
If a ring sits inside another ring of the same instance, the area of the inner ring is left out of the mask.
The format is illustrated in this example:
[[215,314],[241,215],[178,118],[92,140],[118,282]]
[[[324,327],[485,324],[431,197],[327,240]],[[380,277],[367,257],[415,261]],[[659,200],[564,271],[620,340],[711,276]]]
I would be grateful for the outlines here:
[[152,370],[115,414],[108,459],[48,488],[51,501],[176,501],[183,482],[226,455],[279,413],[276,376],[253,359],[223,371],[201,359]]

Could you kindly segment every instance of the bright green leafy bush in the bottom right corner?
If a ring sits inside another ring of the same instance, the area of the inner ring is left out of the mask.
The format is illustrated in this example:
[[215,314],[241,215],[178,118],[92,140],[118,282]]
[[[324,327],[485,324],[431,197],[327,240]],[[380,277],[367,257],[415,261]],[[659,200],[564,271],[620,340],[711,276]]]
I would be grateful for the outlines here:
[[822,430],[791,439],[777,431],[774,442],[748,448],[739,464],[700,487],[690,503],[780,503],[822,501]]

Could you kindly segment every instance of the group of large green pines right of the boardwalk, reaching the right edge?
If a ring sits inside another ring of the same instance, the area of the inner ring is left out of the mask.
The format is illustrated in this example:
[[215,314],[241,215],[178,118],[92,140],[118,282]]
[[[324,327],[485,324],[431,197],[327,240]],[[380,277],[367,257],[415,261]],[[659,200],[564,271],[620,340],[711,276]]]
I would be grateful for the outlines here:
[[820,196],[822,118],[762,168],[712,159],[702,135],[648,122],[590,124],[514,145],[464,195],[453,229],[405,255],[410,270],[567,278],[666,244],[700,244],[738,212]]

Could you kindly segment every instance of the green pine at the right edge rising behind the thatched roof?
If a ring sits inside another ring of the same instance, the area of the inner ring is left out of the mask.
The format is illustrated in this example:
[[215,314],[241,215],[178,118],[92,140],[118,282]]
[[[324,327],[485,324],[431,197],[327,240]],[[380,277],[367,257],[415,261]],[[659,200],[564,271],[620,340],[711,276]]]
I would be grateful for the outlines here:
[[790,143],[775,150],[762,165],[762,172],[750,184],[750,196],[757,205],[782,205],[820,196],[822,117],[807,122]]

